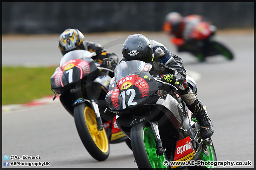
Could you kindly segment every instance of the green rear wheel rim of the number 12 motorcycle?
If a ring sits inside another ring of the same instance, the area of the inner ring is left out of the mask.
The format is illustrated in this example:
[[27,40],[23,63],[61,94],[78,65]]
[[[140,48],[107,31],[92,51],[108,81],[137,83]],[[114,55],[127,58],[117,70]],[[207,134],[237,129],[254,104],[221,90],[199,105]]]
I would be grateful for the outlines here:
[[[192,118],[192,121],[198,123],[196,118]],[[202,146],[202,152],[200,153],[200,158],[202,159],[203,162],[214,162],[214,153],[213,153],[213,149],[212,146],[207,146],[207,145],[203,145]],[[213,165],[206,165],[206,168],[209,170],[214,169]]]

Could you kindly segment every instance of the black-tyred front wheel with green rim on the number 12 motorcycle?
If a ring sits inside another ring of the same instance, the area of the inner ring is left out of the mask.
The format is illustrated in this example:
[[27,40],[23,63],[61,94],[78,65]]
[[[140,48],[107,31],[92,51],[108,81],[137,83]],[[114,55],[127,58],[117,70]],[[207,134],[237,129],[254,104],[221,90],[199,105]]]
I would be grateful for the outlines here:
[[142,124],[131,129],[132,151],[138,168],[167,169],[165,154],[156,154],[155,136],[150,126]]

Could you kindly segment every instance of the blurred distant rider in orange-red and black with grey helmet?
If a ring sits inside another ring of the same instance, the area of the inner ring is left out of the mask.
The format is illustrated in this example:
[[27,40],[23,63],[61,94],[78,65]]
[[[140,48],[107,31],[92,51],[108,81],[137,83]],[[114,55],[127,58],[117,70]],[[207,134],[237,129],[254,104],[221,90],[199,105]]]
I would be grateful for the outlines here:
[[166,15],[162,29],[170,36],[171,42],[178,52],[190,51],[199,61],[204,61],[207,48],[199,41],[207,40],[215,34],[215,26],[211,25],[200,15],[182,17],[178,12]]

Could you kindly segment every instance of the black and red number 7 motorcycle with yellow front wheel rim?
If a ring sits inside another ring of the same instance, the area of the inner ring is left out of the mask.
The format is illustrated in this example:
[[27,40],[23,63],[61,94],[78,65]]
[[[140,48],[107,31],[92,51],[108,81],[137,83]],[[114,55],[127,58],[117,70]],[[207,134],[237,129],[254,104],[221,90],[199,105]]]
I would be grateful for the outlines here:
[[116,125],[116,115],[104,114],[105,96],[113,70],[100,67],[91,58],[95,52],[74,50],[66,53],[50,78],[51,89],[75,120],[80,139],[89,154],[103,161],[110,154],[110,143],[130,140]]

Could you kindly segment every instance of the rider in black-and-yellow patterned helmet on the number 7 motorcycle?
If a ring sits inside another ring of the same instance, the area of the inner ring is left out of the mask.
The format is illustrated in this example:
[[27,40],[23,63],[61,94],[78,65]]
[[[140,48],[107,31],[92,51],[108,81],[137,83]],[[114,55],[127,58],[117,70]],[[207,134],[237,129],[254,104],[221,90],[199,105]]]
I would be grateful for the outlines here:
[[72,50],[88,50],[95,52],[96,56],[92,57],[95,62],[101,63],[101,67],[114,70],[117,65],[118,57],[108,51],[96,42],[85,40],[84,35],[78,29],[65,29],[59,36],[59,49],[62,55]]

